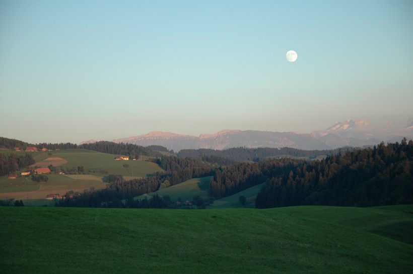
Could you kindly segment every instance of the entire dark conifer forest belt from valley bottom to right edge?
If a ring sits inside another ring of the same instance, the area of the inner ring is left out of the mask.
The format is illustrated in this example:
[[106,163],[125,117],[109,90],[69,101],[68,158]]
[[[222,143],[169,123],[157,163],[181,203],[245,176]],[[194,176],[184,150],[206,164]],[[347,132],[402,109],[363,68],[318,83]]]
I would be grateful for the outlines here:
[[[321,161],[283,157],[225,166],[190,157],[161,156],[154,161],[165,172],[128,181],[109,175],[105,190],[69,193],[59,205],[99,207],[107,202],[112,207],[129,207],[132,197],[203,176],[211,176],[209,194],[213,198],[267,182],[257,195],[257,208],[413,204],[413,142],[405,139],[401,143],[347,150]],[[128,205],[122,200],[129,201]]]

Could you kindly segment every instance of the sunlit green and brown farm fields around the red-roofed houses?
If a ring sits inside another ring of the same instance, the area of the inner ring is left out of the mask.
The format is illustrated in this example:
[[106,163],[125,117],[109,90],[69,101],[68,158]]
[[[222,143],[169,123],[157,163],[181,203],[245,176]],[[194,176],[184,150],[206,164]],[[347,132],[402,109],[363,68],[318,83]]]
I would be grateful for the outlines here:
[[[3,151],[11,153],[13,151]],[[13,152],[24,154],[26,152]],[[36,200],[45,199],[47,194],[59,193],[64,194],[73,190],[83,192],[85,189],[95,188],[103,189],[106,184],[102,182],[102,177],[107,174],[121,174],[125,179],[147,176],[154,172],[163,170],[155,163],[148,161],[115,161],[113,158],[117,155],[105,154],[85,149],[67,149],[52,152],[34,152],[32,153],[36,163],[33,166],[47,167],[49,164],[62,168],[83,166],[88,174],[58,175],[47,174],[49,177],[45,184],[38,184],[30,177],[19,177],[17,179],[8,179],[7,176],[0,176],[0,199],[5,200],[14,198],[15,200]],[[123,167],[128,164],[128,167]],[[20,171],[24,171],[24,168]],[[107,173],[106,173],[107,172]],[[25,202],[27,203],[27,202]],[[32,201],[31,204],[39,204],[38,201]],[[43,204],[43,203],[40,203]]]

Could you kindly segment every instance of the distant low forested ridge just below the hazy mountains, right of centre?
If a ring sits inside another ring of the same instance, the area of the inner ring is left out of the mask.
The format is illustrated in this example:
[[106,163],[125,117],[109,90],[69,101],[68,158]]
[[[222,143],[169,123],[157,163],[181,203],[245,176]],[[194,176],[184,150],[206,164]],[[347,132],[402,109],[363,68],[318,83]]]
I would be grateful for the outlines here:
[[[352,148],[342,148],[341,150],[347,150]],[[328,149],[328,150],[303,150],[291,147],[283,148],[245,148],[245,147],[235,147],[225,150],[215,150],[215,149],[182,149],[178,153],[178,157],[185,158],[198,158],[198,157],[221,157],[227,158],[235,161],[260,161],[267,157],[277,157],[277,156],[293,156],[293,157],[317,157],[320,155],[331,155],[338,154],[340,149]]]

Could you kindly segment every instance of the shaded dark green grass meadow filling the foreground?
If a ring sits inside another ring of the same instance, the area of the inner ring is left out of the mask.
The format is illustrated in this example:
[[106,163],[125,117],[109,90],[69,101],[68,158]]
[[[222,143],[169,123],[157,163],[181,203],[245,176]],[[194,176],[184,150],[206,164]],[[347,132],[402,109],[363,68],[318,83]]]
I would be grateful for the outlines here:
[[[413,206],[0,208],[2,273],[412,273]],[[408,226],[408,224],[410,224]],[[378,233],[377,231],[381,231]]]

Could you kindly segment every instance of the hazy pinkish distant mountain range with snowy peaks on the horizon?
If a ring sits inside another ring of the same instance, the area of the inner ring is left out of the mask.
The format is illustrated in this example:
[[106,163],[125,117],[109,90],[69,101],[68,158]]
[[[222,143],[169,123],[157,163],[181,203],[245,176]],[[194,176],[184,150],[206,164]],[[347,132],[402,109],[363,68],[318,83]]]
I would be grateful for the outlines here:
[[[380,142],[400,142],[403,137],[413,139],[413,119],[405,128],[383,130],[371,126],[363,119],[336,122],[326,130],[310,134],[296,132],[271,132],[255,130],[222,130],[199,137],[176,133],[153,131],[145,135],[115,139],[116,143],[131,143],[141,146],[161,145],[178,152],[182,149],[227,149],[232,147],[292,147],[297,149],[333,149],[344,146],[373,146]],[[95,142],[89,140],[82,143]]]

